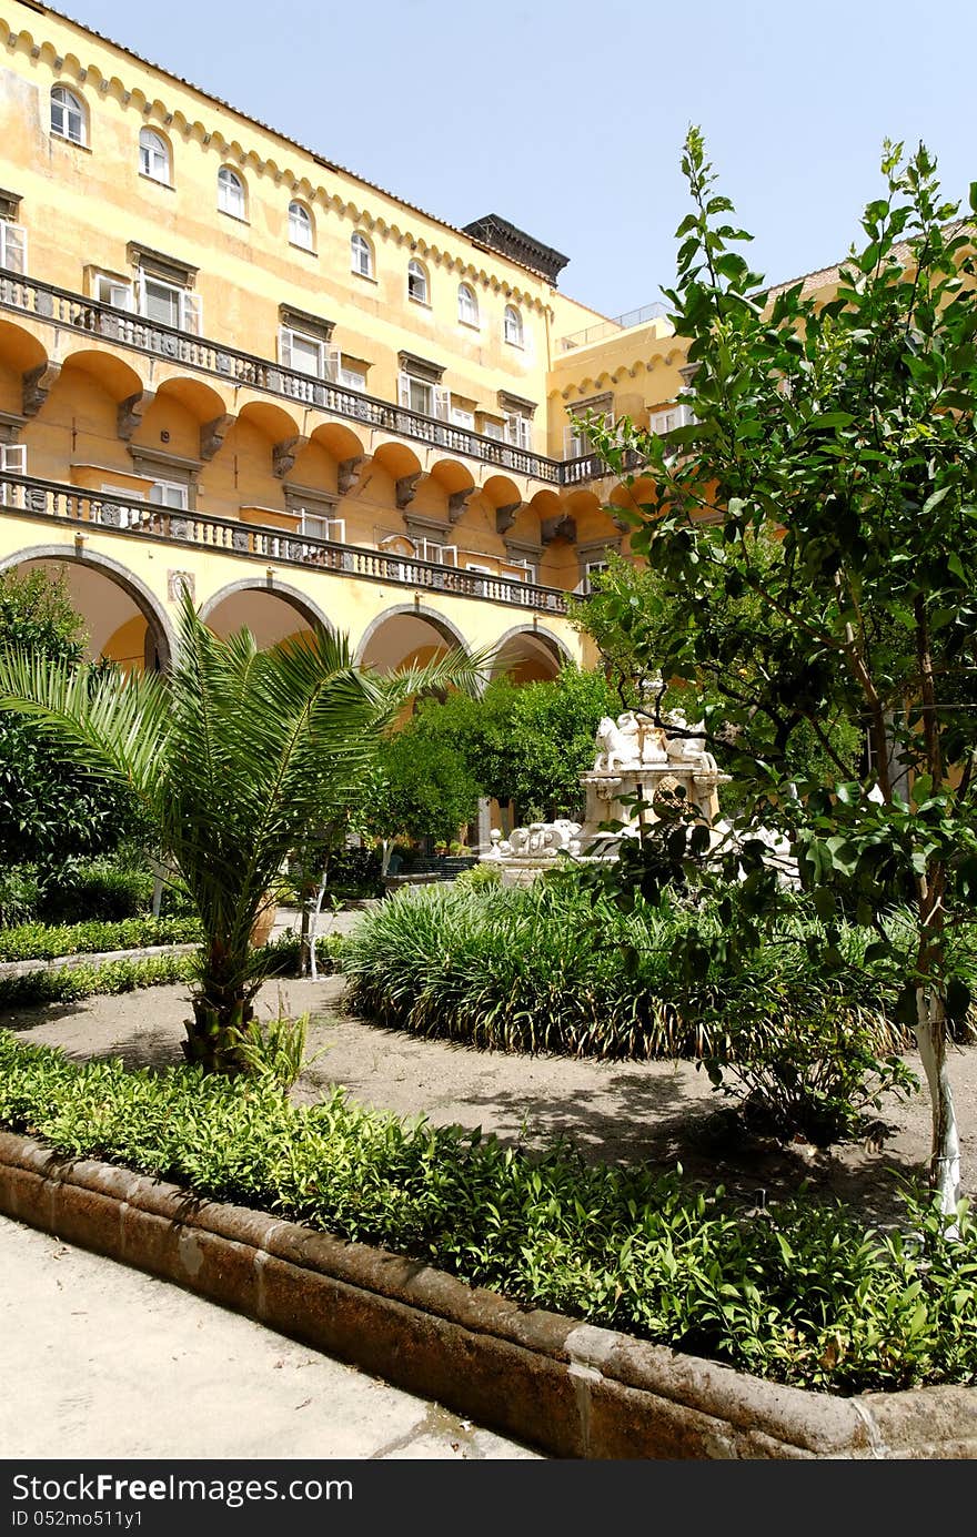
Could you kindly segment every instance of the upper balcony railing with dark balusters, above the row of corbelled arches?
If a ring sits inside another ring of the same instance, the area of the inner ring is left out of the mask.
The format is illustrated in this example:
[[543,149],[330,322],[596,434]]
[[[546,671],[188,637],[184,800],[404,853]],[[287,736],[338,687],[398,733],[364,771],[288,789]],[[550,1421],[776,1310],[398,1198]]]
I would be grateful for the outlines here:
[[465,453],[483,464],[495,464],[499,469],[514,470],[517,475],[528,475],[551,486],[562,484],[563,464],[559,460],[548,460],[542,453],[517,449],[511,443],[486,438],[466,427],[454,427],[437,417],[423,417],[375,395],[312,378],[298,369],[282,367],[280,363],[269,363],[237,347],[220,346],[188,330],[134,315],[131,310],[100,304],[82,294],[38,283],[18,272],[0,272],[0,306],[49,320],[55,326],[69,326],[89,337],[100,337],[118,347],[132,347],[202,373],[212,373],[231,384],[268,390],[271,395],[280,395],[300,406],[312,406],[346,421],[382,427],[415,443],[446,449],[449,453]]

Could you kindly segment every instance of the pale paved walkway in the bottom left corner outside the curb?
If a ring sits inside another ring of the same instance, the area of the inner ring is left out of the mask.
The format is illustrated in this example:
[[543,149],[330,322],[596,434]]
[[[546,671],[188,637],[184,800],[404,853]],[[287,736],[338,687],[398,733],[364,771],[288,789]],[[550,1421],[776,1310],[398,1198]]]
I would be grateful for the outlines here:
[[537,1459],[180,1286],[0,1217],[0,1457]]

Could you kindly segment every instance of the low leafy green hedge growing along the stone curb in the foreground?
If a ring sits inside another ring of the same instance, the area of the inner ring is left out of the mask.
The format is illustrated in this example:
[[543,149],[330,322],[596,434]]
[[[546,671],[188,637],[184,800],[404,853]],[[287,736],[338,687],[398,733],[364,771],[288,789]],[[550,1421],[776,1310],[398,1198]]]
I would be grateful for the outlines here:
[[0,1124],[492,1286],[526,1306],[834,1393],[977,1382],[977,1223],[909,1202],[912,1239],[840,1203],[748,1216],[648,1168],[531,1159],[337,1090],[75,1065],[0,1033]]

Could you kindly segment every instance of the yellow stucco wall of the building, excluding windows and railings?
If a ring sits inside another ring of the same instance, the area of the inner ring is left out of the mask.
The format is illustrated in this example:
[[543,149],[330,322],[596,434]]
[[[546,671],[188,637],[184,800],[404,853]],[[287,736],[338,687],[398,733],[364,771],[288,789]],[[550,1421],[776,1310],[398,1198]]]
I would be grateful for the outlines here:
[[[52,132],[54,86],[80,101],[83,144]],[[166,183],[140,172],[143,128],[166,144]],[[245,188],[245,218],[218,207],[222,168]],[[312,251],[289,238],[291,201],[309,212]],[[565,352],[562,337],[603,317],[542,274],[23,0],[0,0],[3,217],[26,231],[26,278],[68,295],[38,297],[0,271],[0,449],[26,449],[29,478],[123,498],[146,498],[154,483],[172,478],[188,486],[189,509],[205,518],[266,529],[295,529],[297,509],[306,506],[314,516],[338,520],[342,533],[332,536],[346,546],[375,550],[411,539],[417,550],[428,538],[454,549],[458,567],[512,578],[528,566],[543,589],[563,592],[579,586],[603,546],[626,549],[605,510],[620,493],[612,481],[554,484],[554,467],[492,464],[454,441],[425,443],[395,424],[342,417],[322,403],[286,398],[274,384],[240,383],[217,354],[237,349],[274,364],[286,306],[332,326],[329,346],[366,369],[369,397],[397,406],[400,355],[409,354],[442,369],[438,387],[478,413],[480,432],[486,418],[502,421],[500,393],[525,403],[532,415],[526,446],[562,460],[568,410],[588,393],[612,389],[615,409],[640,420],[677,392],[683,354],[666,327],[655,323]],[[354,232],[369,241],[368,277],[352,271]],[[200,335],[217,352],[180,341],[174,355],[163,355],[112,321],[112,312],[103,324],[105,312],[85,307],[97,274],[135,283],[146,252],[182,266],[202,304]],[[412,260],[426,274],[426,303],[408,294]],[[475,295],[477,326],[458,318],[460,283]],[[506,306],[522,318],[522,346],[505,337]],[[285,587],[354,646],[391,610],[420,603],[442,616],[445,633],[471,647],[509,636],[514,675],[535,676],[562,655],[585,655],[545,595],[535,612],[494,601],[488,587],[485,596],[415,595],[403,584],[215,553],[200,543],[45,523],[28,516],[26,506],[18,490],[0,507],[0,561],[31,549],[63,550],[106,581],[128,573],[135,609],[105,641],[120,658],[137,655],[146,616],[158,626],[172,618],[174,572],[192,576],[202,606],[228,587],[248,587],[254,604]],[[78,586],[86,601],[95,601],[92,583]],[[240,613],[242,599],[226,612]],[[262,622],[271,632],[285,621],[266,604]],[[534,630],[548,636],[549,653],[532,639],[512,650],[512,632]]]

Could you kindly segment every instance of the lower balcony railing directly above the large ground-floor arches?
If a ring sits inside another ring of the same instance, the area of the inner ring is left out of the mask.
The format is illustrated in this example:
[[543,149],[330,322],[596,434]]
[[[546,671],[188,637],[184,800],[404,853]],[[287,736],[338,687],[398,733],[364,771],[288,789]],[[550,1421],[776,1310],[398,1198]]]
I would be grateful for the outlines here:
[[234,518],[212,518],[200,512],[157,507],[148,501],[126,501],[108,492],[82,490],[28,475],[0,475],[0,515],[22,513],[52,518],[75,529],[106,529],[140,539],[205,550],[222,550],[268,564],[302,566],[338,576],[422,587],[458,598],[483,598],[543,613],[566,613],[566,593],[559,587],[466,572],[434,561],[386,555],[358,544],[335,544],[282,529],[263,529]]

